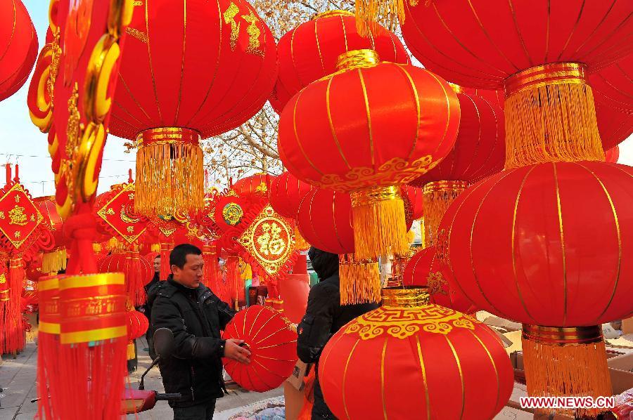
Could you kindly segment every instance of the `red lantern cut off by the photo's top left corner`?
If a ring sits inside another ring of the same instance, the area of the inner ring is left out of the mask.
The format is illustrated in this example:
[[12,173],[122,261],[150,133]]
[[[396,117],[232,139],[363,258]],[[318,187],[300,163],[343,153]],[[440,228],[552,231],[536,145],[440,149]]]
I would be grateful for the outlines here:
[[27,81],[37,58],[37,34],[20,0],[0,4],[0,100]]

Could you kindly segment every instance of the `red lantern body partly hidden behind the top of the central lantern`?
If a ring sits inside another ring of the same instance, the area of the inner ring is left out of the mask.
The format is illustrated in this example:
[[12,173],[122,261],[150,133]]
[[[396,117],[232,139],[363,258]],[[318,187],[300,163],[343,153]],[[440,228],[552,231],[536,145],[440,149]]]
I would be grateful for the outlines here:
[[336,71],[338,56],[352,50],[375,50],[381,60],[409,63],[409,55],[395,34],[381,27],[361,37],[354,13],[327,11],[302,23],[279,39],[279,76],[270,104],[281,113],[295,93],[313,81]]

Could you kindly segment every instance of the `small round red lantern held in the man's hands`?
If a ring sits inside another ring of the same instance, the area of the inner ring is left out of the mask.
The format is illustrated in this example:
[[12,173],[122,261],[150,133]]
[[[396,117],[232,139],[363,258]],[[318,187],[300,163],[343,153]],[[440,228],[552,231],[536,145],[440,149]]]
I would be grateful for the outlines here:
[[297,362],[297,333],[281,313],[253,305],[235,315],[226,325],[223,339],[244,340],[250,350],[250,365],[222,359],[224,369],[242,388],[264,392],[280,386]]

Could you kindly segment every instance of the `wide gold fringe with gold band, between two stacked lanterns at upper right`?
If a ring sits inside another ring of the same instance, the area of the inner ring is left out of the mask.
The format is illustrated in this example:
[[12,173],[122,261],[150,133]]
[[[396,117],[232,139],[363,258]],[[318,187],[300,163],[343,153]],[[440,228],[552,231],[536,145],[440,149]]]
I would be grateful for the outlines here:
[[604,161],[587,67],[553,63],[505,81],[506,169],[539,162]]

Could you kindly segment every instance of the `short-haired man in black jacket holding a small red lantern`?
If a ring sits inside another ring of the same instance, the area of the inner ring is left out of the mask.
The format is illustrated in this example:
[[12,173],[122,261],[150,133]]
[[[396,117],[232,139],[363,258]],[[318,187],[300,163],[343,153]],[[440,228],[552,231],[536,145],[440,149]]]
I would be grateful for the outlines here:
[[220,329],[236,312],[200,283],[202,252],[181,244],[170,254],[172,274],[162,282],[152,299],[154,329],[174,333],[174,353],[160,360],[158,367],[167,393],[181,393],[170,402],[174,420],[212,419],[215,400],[224,395],[221,357],[250,363],[250,351],[239,346],[243,340],[222,340]]

